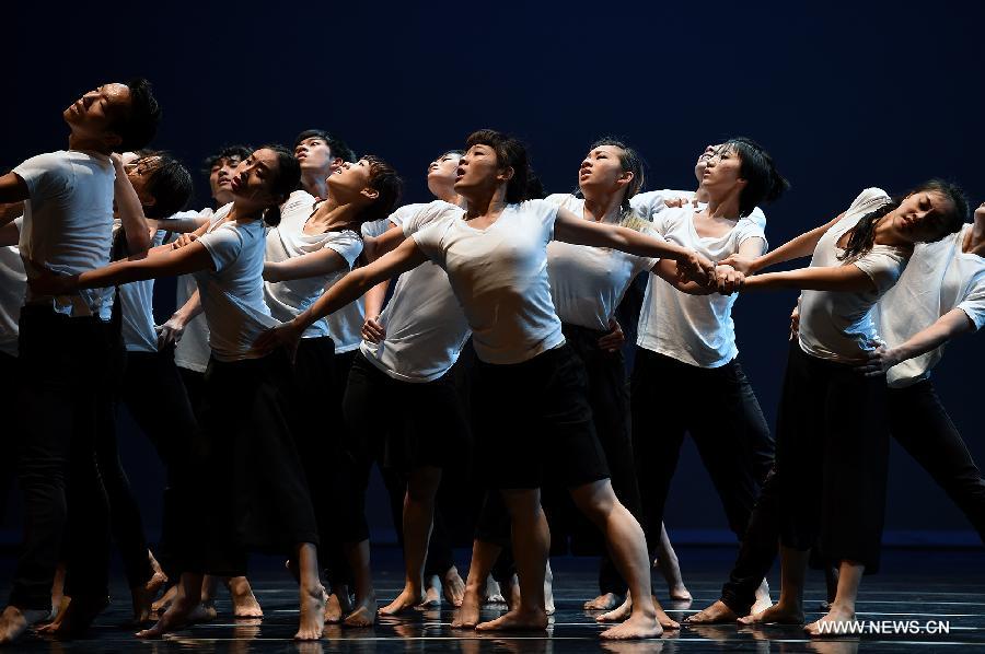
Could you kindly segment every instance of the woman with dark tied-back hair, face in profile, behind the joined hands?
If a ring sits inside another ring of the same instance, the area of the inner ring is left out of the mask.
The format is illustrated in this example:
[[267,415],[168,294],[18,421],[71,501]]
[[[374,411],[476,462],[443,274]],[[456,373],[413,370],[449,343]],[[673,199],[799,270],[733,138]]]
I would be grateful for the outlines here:
[[[748,217],[787,187],[772,157],[755,142],[738,138],[711,156],[703,155],[698,165],[704,167],[699,190],[707,203],[664,209],[654,217],[653,229],[714,261],[735,253],[758,256],[766,248],[766,237]],[[762,434],[768,435],[768,429],[763,429],[762,420],[749,419],[750,414],[762,417],[762,411],[737,359],[731,317],[734,301],[734,296],[720,294],[682,293],[652,279],[647,288],[630,406],[633,451],[651,553],[657,553],[685,432],[698,447],[739,540],[758,492],[762,477],[753,465],[753,453],[761,448]],[[696,387],[704,393],[697,396],[688,390]],[[700,409],[709,395],[715,398],[716,411]],[[753,412],[746,407],[750,396],[756,409]],[[657,398],[661,400],[657,402]],[[660,408],[664,406],[680,410],[668,413]]]

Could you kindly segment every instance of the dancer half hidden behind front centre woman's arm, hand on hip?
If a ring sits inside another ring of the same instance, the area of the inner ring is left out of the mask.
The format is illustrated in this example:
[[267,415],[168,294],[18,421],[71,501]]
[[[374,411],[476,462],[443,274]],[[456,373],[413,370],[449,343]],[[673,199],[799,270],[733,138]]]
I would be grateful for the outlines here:
[[[380,248],[390,249],[406,234],[457,211],[453,185],[461,155],[447,152],[428,166],[428,187],[441,199],[408,205],[390,215],[394,226],[380,238]],[[436,495],[450,457],[467,445],[467,427],[451,371],[470,330],[448,276],[434,264],[401,276],[385,310],[384,294],[385,287],[367,295],[364,340],[349,373],[344,409],[350,433],[364,434],[351,451],[359,480],[355,501],[362,510],[375,459],[391,501],[399,502],[394,519],[404,549],[405,585],[399,596],[379,611],[394,615],[427,600],[425,572],[430,561]],[[389,398],[392,419],[380,418],[381,397]],[[419,407],[428,407],[427,414]],[[431,572],[453,583],[457,571],[450,546],[444,547],[442,563]],[[462,584],[461,577],[457,583]]]

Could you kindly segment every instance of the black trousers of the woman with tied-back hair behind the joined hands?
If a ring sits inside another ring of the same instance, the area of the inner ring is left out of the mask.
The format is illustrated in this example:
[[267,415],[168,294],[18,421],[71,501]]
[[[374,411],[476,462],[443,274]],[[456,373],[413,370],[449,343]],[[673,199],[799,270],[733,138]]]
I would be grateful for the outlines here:
[[715,369],[687,365],[636,349],[631,378],[633,452],[651,556],[684,434],[690,433],[721,499],[729,528],[741,540],[772,459],[773,441],[739,362]]

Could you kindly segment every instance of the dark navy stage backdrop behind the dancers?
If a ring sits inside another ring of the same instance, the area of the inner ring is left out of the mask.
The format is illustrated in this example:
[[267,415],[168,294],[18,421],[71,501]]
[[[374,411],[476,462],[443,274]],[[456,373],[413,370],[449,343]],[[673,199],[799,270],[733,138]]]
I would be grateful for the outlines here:
[[[62,108],[99,83],[137,74],[152,80],[165,109],[154,145],[196,170],[220,144],[289,142],[322,127],[357,152],[392,161],[408,202],[428,199],[428,162],[479,127],[525,139],[549,191],[576,186],[600,136],[644,153],[648,189],[693,189],[705,144],[746,135],[793,185],[765,208],[777,246],[830,220],[867,186],[896,191],[942,176],[961,183],[972,206],[985,200],[983,7],[131,2],[67,11],[18,2],[4,12],[13,12],[3,31],[11,101],[0,166],[65,148]],[[196,206],[204,206],[207,184],[196,180]],[[172,289],[160,284],[162,318]],[[741,361],[770,423],[795,297],[743,296],[734,313]],[[983,338],[962,338],[935,374],[978,462],[983,349]],[[132,429],[121,440],[153,533],[160,467]],[[888,538],[977,542],[895,446],[889,497]],[[379,490],[371,505],[374,526],[389,529]],[[680,538],[727,537],[691,445],[667,523]],[[14,518],[4,527],[13,529]]]

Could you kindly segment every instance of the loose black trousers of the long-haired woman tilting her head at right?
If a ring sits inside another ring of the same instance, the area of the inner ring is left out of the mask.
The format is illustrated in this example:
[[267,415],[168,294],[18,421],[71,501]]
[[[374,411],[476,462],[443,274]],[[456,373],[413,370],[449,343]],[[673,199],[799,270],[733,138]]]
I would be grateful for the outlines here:
[[777,414],[780,538],[879,569],[889,465],[884,377],[790,348]]

